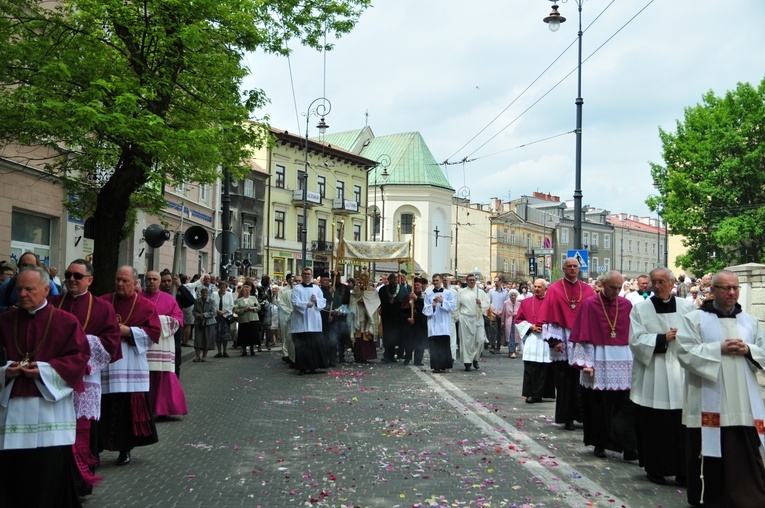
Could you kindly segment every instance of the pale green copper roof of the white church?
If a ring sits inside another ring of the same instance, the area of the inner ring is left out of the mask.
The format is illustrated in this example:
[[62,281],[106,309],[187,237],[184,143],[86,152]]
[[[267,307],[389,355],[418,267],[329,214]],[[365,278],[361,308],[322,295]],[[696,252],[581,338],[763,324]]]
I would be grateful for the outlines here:
[[[369,185],[430,185],[454,190],[419,132],[375,137],[369,127],[364,127],[325,134],[322,141],[380,162],[369,172]],[[390,163],[385,167],[387,160]],[[385,169],[388,179],[383,182]]]

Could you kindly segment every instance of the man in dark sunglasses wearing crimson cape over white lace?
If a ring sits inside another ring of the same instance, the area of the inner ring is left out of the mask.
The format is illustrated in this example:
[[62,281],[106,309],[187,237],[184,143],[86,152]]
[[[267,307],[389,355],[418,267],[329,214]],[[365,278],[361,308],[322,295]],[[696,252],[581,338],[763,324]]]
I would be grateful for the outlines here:
[[117,315],[109,302],[88,291],[92,283],[93,265],[84,259],[75,259],[64,272],[67,293],[48,297],[54,307],[77,317],[90,345],[88,374],[83,378],[85,391],[74,393],[77,417],[74,454],[79,464],[87,464],[89,468],[89,474],[79,468],[75,470],[81,496],[92,493],[97,480],[94,473],[98,449],[91,448],[90,444],[97,442],[98,425],[92,422],[101,415],[101,369],[122,358]]

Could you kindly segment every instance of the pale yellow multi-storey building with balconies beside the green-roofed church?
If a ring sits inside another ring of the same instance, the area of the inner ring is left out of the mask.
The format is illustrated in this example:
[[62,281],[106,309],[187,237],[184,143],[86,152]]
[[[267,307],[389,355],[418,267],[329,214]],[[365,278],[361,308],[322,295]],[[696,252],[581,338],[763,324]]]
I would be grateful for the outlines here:
[[[334,269],[332,248],[341,221],[345,239],[367,239],[367,172],[377,162],[313,139],[306,149],[305,137],[285,130],[271,129],[271,134],[273,145],[255,154],[269,174],[265,273],[279,280],[303,266],[314,273]],[[358,268],[340,268],[345,275],[358,273]]]

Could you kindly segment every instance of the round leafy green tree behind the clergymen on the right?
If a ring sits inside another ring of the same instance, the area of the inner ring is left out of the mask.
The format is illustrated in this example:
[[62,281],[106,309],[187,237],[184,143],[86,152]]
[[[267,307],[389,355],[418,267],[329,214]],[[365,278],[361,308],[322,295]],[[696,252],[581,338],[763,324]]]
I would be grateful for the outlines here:
[[647,203],[685,237],[679,265],[702,274],[765,261],[765,79],[724,97],[708,92],[660,138],[664,165],[651,164],[659,196]]

